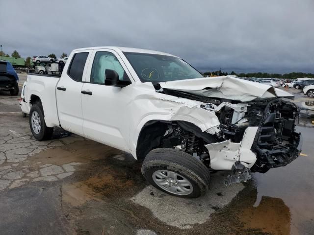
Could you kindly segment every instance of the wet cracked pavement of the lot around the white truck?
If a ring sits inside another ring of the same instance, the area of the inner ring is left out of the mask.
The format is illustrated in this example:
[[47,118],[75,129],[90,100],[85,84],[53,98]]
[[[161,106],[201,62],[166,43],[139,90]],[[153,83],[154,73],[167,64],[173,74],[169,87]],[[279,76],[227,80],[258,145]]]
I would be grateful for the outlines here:
[[0,118],[1,234],[314,234],[311,119],[301,119],[303,154],[288,166],[230,187],[216,172],[205,196],[182,199],[149,186],[114,148],[61,129],[36,141],[17,96],[0,92]]

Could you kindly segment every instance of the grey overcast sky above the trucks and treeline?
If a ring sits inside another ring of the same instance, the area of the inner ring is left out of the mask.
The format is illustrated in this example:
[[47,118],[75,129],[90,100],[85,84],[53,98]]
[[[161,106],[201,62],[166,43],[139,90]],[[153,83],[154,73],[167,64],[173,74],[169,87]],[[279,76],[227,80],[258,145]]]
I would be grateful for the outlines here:
[[314,0],[0,0],[0,44],[24,58],[123,46],[202,71],[314,72]]

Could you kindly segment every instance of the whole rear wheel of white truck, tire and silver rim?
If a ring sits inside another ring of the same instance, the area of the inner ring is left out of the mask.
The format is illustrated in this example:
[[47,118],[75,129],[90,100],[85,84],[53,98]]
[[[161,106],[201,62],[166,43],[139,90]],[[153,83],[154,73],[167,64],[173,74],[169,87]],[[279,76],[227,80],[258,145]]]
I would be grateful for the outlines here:
[[29,112],[29,126],[36,140],[45,141],[51,139],[53,127],[46,126],[41,103],[36,103],[31,106]]

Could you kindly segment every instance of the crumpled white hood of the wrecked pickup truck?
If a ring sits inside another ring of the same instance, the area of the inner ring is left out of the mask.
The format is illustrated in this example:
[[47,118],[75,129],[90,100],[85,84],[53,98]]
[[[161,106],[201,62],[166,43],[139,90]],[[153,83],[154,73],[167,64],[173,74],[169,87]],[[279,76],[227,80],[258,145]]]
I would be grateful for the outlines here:
[[272,86],[232,76],[159,82],[159,85],[165,89],[184,91],[213,98],[239,100],[241,102],[251,101],[256,98],[294,98],[292,94]]

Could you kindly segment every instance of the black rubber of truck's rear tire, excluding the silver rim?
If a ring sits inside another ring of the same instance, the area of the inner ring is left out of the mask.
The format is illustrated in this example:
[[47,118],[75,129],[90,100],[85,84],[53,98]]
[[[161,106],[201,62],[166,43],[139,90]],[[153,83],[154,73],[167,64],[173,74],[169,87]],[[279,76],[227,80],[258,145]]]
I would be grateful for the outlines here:
[[[33,127],[32,127],[32,115],[34,112],[37,112],[40,118],[40,131],[39,133],[35,133]],[[42,104],[36,103],[31,106],[30,112],[29,112],[29,127],[31,130],[31,133],[35,137],[36,140],[38,141],[45,141],[49,140],[52,137],[52,132],[53,132],[53,127],[48,127],[46,126],[45,118],[44,118],[44,111],[43,111],[43,106]]]

